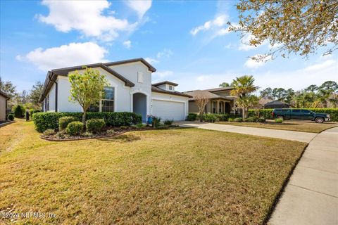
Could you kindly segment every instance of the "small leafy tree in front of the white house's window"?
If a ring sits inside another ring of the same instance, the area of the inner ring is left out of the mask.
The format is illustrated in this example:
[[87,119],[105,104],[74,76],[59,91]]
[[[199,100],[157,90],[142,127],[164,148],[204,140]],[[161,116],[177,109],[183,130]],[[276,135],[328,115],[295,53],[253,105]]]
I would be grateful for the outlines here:
[[104,86],[108,81],[99,70],[84,68],[84,73],[80,74],[77,70],[69,75],[70,82],[70,101],[77,101],[83,110],[82,123],[86,122],[86,113],[91,105],[98,105],[102,96],[104,96]]

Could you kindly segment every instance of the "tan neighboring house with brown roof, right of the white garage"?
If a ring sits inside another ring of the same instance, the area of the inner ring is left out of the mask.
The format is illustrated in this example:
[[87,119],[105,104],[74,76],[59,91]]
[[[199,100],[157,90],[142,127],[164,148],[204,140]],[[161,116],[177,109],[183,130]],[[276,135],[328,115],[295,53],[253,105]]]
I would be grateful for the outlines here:
[[227,86],[184,92],[184,94],[192,96],[192,98],[189,98],[189,113],[199,113],[199,108],[195,102],[196,96],[205,96],[209,99],[204,110],[205,113],[235,113],[234,105],[236,103],[236,97],[231,96],[230,91],[232,89],[234,88]]

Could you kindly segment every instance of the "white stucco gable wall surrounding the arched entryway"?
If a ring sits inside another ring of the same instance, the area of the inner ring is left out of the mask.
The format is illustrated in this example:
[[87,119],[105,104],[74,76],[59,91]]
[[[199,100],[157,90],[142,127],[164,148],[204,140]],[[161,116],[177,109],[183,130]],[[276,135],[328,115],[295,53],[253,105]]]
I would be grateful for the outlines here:
[[[135,93],[142,93],[146,95],[146,115],[151,114],[151,72],[148,70],[148,68],[141,62],[135,62],[135,63],[127,63],[123,65],[112,65],[109,68],[115,70],[123,77],[129,79],[131,82],[135,84],[130,89],[129,94],[126,96],[121,96],[121,94],[118,94],[118,97],[126,98],[124,101],[120,101],[121,104],[125,104],[127,108],[125,108],[124,111],[130,111],[132,112],[132,95]],[[142,73],[143,76],[143,82],[138,82],[138,74],[139,72]],[[127,96],[129,96],[129,100],[127,100]],[[128,102],[127,102],[128,101]],[[129,104],[129,105],[128,105]]]

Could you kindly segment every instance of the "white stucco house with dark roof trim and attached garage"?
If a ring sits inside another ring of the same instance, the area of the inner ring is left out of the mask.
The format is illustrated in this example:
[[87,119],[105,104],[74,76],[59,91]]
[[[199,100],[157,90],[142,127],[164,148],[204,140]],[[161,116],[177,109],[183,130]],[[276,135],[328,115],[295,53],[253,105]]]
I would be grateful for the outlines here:
[[[99,106],[90,107],[89,112],[134,112],[142,115],[143,122],[147,115],[155,115],[162,120],[185,120],[190,96],[175,91],[178,84],[173,82],[151,84],[151,74],[156,69],[143,58],[86,66],[99,70],[109,83],[104,88],[105,99],[101,99]],[[80,65],[47,73],[39,99],[44,112],[82,112],[80,105],[68,98],[68,75],[75,70],[84,72]]]

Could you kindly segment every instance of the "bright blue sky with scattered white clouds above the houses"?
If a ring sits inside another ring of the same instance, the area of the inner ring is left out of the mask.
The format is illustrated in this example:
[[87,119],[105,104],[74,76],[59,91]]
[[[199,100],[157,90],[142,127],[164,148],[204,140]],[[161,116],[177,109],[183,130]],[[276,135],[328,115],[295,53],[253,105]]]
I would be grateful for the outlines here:
[[253,75],[256,85],[302,89],[337,79],[336,55],[278,57],[255,63],[252,48],[227,30],[236,1],[0,1],[0,75],[19,91],[46,72],[86,63],[143,57],[153,82],[180,91],[207,89]]

